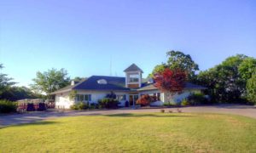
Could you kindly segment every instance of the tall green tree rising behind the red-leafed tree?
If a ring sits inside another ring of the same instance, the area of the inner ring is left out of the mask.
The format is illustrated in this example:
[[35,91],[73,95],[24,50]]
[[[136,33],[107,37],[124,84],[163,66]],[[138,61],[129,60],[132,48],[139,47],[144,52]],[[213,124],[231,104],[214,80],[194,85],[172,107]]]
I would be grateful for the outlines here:
[[168,57],[167,62],[162,63],[161,65],[156,65],[151,76],[154,76],[155,73],[164,71],[165,68],[169,68],[171,70],[180,69],[184,71],[189,81],[194,79],[195,71],[199,71],[199,66],[189,54],[183,54],[181,51],[172,50],[167,52],[166,55]]

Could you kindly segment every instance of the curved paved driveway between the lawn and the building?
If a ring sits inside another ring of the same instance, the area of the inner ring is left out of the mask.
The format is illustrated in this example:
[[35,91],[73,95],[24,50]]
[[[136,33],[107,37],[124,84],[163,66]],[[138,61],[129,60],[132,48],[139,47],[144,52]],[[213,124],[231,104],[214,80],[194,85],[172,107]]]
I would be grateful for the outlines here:
[[[166,108],[166,111],[177,111],[177,108]],[[253,117],[256,119],[256,107],[249,105],[211,105],[211,106],[195,106],[180,108],[183,112],[207,112],[207,113],[225,113],[241,116]],[[62,116],[93,116],[93,115],[110,115],[121,113],[135,112],[160,112],[160,109],[119,109],[111,111],[48,111],[48,112],[30,112],[26,114],[14,114],[0,116],[0,127],[38,122],[46,119],[53,119]]]

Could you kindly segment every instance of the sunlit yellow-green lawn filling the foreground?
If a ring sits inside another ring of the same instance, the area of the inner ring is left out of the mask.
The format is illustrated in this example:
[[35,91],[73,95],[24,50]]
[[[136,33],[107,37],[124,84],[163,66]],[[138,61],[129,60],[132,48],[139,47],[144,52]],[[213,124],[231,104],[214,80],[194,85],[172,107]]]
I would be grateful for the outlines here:
[[0,152],[256,152],[256,120],[218,114],[76,116],[0,128]]

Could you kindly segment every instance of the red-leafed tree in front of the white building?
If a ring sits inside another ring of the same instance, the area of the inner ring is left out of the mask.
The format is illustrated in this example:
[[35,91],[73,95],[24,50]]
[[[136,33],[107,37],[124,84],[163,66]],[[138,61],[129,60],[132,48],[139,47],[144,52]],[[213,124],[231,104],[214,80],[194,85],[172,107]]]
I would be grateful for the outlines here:
[[154,74],[154,86],[165,92],[170,100],[172,95],[183,92],[186,78],[185,71],[166,68],[164,71]]

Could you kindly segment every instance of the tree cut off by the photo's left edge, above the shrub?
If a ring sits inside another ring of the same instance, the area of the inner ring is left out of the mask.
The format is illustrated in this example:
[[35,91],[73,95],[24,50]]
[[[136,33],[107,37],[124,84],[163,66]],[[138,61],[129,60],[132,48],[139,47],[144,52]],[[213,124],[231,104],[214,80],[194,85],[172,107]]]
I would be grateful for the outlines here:
[[[0,70],[1,69],[3,69],[3,64],[0,64]],[[13,79],[8,77],[7,74],[0,73],[0,99],[3,99],[3,92],[15,84],[15,82],[12,82],[12,80]]]

